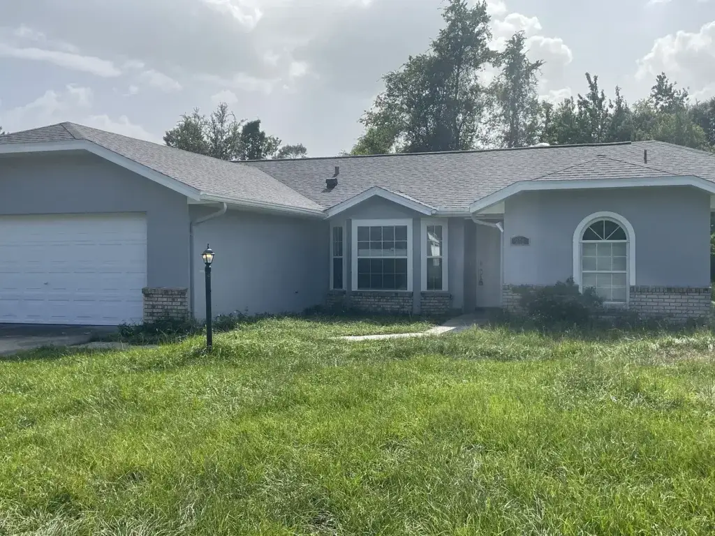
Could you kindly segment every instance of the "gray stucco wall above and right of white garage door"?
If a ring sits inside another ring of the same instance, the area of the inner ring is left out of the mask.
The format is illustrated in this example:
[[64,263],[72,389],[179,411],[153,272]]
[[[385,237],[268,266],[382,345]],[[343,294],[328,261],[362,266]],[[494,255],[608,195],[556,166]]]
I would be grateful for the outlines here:
[[94,154],[0,157],[0,214],[145,212],[147,284],[189,287],[187,199]]

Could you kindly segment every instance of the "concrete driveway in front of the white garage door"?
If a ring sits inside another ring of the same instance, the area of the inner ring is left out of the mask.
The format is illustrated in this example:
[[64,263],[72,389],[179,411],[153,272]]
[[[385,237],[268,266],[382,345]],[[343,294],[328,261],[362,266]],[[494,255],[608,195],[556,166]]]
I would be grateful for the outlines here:
[[84,344],[116,327],[48,326],[35,324],[0,324],[0,355],[10,355],[41,346]]

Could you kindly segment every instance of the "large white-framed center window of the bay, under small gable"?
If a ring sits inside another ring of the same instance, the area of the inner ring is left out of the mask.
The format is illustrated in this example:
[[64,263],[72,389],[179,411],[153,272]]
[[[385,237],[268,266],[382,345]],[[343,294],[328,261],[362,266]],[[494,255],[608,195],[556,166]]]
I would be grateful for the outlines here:
[[412,220],[352,221],[352,289],[412,290]]

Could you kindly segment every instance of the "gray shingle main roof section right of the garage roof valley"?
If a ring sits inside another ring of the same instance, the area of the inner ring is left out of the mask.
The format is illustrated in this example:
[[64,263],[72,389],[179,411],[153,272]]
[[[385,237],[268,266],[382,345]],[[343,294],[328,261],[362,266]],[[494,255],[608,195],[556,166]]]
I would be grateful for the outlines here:
[[[644,151],[648,151],[648,164]],[[323,207],[374,186],[441,210],[462,212],[509,185],[543,179],[695,176],[715,182],[715,157],[664,142],[531,147],[453,153],[395,154],[247,162]],[[340,167],[337,187],[325,179]],[[547,177],[551,175],[551,177]]]

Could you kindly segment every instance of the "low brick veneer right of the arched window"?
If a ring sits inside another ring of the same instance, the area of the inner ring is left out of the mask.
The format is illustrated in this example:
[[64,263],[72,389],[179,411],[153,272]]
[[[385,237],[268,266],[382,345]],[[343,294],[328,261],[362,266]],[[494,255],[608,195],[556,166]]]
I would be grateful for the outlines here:
[[708,317],[710,287],[631,287],[630,309],[641,317],[666,317],[679,322]]

